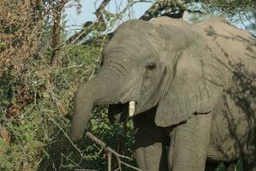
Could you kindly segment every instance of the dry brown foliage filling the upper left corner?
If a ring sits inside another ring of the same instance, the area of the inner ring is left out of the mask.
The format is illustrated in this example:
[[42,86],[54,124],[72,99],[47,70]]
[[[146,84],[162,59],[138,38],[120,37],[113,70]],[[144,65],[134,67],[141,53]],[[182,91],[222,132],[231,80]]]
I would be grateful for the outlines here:
[[9,66],[21,72],[26,59],[35,55],[45,24],[40,14],[34,11],[41,8],[40,5],[30,1],[1,1],[0,75]]

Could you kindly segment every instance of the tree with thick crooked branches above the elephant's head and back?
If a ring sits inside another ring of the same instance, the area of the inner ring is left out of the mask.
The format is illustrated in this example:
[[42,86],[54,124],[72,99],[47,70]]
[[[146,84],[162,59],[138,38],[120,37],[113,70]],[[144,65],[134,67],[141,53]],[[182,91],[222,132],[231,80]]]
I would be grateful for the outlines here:
[[[86,21],[83,29],[68,38],[68,42],[78,42],[93,31],[105,32],[108,23],[122,20],[124,15],[128,15],[128,9],[133,8],[136,3],[152,3],[145,14],[140,16],[140,20],[149,21],[158,16],[169,16],[172,18],[182,18],[184,12],[199,15],[214,15],[215,13],[234,16],[248,15],[247,12],[256,9],[256,2],[253,0],[128,0],[127,5],[117,14],[106,10],[111,0],[104,0],[95,11],[96,21]],[[197,4],[197,5],[195,5]],[[241,19],[240,20],[245,20]],[[249,19],[246,19],[249,20]],[[253,23],[253,26],[255,24]]]

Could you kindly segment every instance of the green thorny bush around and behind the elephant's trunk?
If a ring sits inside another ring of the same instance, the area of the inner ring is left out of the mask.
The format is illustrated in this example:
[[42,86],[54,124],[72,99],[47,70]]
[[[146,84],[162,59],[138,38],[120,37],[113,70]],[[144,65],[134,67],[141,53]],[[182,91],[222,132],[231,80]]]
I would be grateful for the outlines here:
[[[100,47],[76,45],[66,54],[55,67],[51,67],[45,59],[30,61],[33,70],[26,79],[17,79],[11,73],[3,74],[0,88],[3,98],[0,103],[13,103],[16,110],[9,111],[8,105],[1,105],[0,122],[11,135],[9,141],[0,139],[1,170],[104,170],[104,151],[88,139],[83,139],[80,150],[77,150],[67,137],[70,125],[67,118],[73,112],[74,91],[80,82],[90,79],[97,71]],[[24,108],[17,102],[19,97],[15,97],[16,91],[21,89],[21,82],[26,86],[23,89],[35,94],[33,101]],[[91,132],[114,148],[116,140],[113,139],[123,136],[122,126],[110,125],[104,106],[98,106],[93,113]],[[134,156],[130,121],[128,128],[126,155]]]

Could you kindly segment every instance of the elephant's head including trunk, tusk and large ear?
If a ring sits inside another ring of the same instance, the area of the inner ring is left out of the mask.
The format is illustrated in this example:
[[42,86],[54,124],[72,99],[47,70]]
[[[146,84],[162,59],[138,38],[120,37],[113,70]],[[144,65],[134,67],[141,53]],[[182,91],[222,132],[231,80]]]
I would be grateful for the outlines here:
[[222,85],[211,74],[218,70],[212,59],[207,44],[184,22],[122,23],[104,47],[100,72],[75,93],[70,138],[81,139],[95,103],[111,104],[114,115],[127,110],[137,115],[158,106],[155,122],[160,127],[209,112]]

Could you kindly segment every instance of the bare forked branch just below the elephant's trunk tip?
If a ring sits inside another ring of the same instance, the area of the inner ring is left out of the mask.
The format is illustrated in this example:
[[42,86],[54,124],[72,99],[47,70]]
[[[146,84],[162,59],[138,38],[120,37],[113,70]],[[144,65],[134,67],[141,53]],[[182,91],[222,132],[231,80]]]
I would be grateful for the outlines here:
[[92,141],[94,141],[96,144],[99,144],[106,151],[107,157],[108,157],[108,171],[111,170],[111,156],[112,155],[116,156],[116,160],[118,162],[118,168],[116,169],[116,171],[117,170],[122,171],[122,164],[127,166],[128,168],[133,168],[134,170],[141,171],[140,168],[136,168],[134,166],[129,165],[126,162],[123,162],[121,160],[121,158],[125,158],[125,159],[128,159],[128,160],[131,160],[131,159],[128,156],[123,156],[123,155],[118,154],[116,152],[116,150],[111,149],[109,146],[107,146],[107,144],[104,144],[104,142],[102,140],[100,140],[97,137],[95,137],[94,135],[92,135],[92,133],[87,132],[86,137],[88,137],[89,139],[92,139]]

